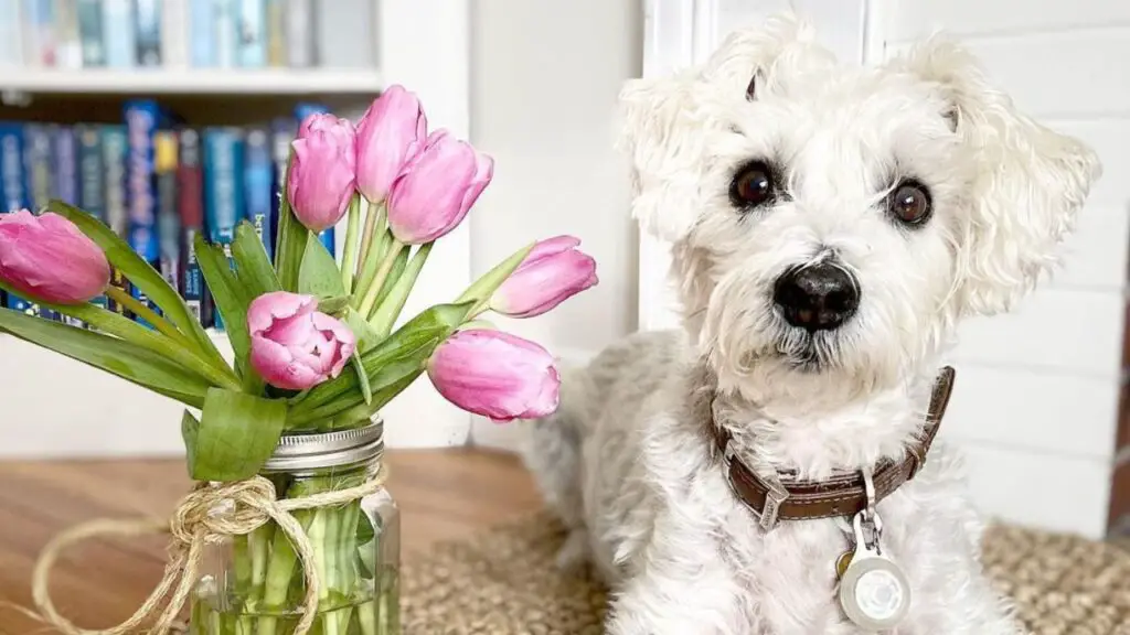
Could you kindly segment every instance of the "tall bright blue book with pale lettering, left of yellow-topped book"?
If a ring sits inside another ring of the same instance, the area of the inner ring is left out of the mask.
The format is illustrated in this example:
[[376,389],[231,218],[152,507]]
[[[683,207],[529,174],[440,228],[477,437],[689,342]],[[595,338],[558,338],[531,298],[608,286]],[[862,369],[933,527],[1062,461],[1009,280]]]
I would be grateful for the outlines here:
[[[138,255],[158,270],[160,242],[157,235],[154,134],[159,119],[159,107],[151,99],[137,99],[125,104],[125,133],[129,143],[125,159],[125,205],[129,210],[129,243]],[[140,289],[134,287],[131,294],[156,310]],[[140,319],[138,322],[149,325]]]

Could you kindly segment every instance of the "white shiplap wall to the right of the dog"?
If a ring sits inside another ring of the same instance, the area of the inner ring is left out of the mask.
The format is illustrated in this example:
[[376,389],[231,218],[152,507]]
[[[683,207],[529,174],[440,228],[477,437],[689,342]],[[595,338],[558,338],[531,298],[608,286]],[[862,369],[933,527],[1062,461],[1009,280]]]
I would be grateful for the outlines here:
[[1130,2],[871,0],[869,9],[872,58],[935,29],[956,35],[1018,107],[1092,145],[1104,164],[1062,272],[1016,313],[962,329],[942,433],[965,449],[990,513],[1102,536],[1130,240]]

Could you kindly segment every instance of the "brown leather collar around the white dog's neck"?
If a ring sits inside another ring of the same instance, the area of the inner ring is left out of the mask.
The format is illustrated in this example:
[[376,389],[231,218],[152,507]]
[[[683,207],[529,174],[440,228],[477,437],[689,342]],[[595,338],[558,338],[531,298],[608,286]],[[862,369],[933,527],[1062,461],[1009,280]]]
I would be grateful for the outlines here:
[[[909,447],[901,461],[884,460],[875,466],[875,501],[879,502],[901,485],[914,478],[925,463],[930,444],[933,443],[941,418],[949,405],[954,389],[954,369],[946,366],[935,381],[927,411],[925,425],[918,443]],[[867,493],[861,472],[837,475],[826,480],[797,480],[788,472],[780,473],[780,482],[767,484],[733,455],[730,433],[712,423],[715,451],[721,452],[725,463],[727,479],[733,493],[760,520],[766,531],[781,520],[828,519],[852,516],[867,507]]]

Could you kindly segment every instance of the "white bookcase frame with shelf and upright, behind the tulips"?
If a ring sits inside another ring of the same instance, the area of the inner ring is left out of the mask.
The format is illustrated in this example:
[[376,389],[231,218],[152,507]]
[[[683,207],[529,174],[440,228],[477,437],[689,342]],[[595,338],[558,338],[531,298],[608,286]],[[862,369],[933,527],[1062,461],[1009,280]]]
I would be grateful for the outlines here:
[[[0,6],[6,1],[10,0],[0,0]],[[181,108],[192,125],[245,125],[287,112],[296,102],[316,99],[356,120],[385,86],[401,84],[420,96],[433,129],[469,137],[470,8],[466,0],[316,1],[337,14],[333,33],[346,27],[365,32],[338,37],[348,41],[342,45],[351,43],[365,53],[363,63],[127,69],[0,63],[0,115],[70,124],[115,122],[123,101],[157,98]],[[356,19],[362,6],[368,17]],[[336,234],[341,253],[344,224]],[[470,230],[464,225],[432,255],[403,314],[411,316],[458,296],[470,282]],[[231,356],[226,334],[211,334],[220,351]],[[463,444],[470,416],[443,401],[421,380],[383,412],[386,444]],[[183,452],[182,411],[169,399],[0,333],[0,460],[179,455]]]

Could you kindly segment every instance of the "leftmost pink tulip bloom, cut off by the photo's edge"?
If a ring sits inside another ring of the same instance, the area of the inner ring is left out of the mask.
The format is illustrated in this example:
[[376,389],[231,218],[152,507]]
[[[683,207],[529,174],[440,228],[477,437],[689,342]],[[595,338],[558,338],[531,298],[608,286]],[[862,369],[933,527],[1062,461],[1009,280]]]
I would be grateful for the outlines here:
[[73,223],[21,209],[0,214],[0,280],[27,299],[82,304],[110,284],[110,263]]

